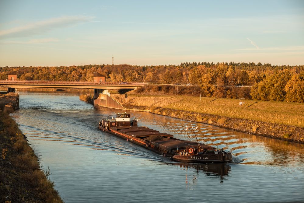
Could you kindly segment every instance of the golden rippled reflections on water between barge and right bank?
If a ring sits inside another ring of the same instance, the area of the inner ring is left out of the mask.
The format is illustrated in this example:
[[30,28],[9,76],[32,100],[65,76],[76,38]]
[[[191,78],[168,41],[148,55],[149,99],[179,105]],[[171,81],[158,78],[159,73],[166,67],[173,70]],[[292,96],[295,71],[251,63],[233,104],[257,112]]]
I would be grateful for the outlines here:
[[[144,118],[145,126],[173,134],[176,138],[196,141],[193,131],[186,131],[189,121],[159,116],[149,113],[133,113]],[[293,165],[304,163],[304,145],[282,141],[274,138],[250,135],[225,128],[192,122],[198,129],[195,131],[200,142],[218,148],[231,150],[244,160],[244,164]]]

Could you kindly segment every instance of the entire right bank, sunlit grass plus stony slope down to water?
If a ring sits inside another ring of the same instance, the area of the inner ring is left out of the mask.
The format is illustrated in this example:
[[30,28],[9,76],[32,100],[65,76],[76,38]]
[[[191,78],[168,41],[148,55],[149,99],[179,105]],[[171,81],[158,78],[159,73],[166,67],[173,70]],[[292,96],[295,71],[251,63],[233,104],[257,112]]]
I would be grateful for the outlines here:
[[[112,94],[126,108],[304,143],[304,104],[192,96]],[[245,105],[240,109],[239,101]],[[130,105],[132,104],[132,105]]]

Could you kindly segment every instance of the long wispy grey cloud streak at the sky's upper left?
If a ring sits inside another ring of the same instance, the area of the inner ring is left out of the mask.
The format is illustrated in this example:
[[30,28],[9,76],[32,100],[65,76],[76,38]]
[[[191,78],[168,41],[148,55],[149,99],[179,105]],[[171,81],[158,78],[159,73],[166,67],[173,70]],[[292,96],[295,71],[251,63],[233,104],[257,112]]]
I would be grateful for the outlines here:
[[0,38],[25,37],[41,34],[55,28],[88,22],[93,18],[94,17],[90,16],[61,16],[58,18],[46,19],[35,23],[29,23],[24,26],[18,26],[7,30],[0,30]]

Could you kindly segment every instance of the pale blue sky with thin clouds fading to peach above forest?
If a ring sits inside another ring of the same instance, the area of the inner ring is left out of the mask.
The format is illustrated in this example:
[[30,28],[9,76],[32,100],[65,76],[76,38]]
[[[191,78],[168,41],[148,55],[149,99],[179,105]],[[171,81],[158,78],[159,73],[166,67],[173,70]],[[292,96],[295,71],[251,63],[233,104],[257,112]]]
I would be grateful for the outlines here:
[[0,0],[0,66],[304,65],[304,1]]

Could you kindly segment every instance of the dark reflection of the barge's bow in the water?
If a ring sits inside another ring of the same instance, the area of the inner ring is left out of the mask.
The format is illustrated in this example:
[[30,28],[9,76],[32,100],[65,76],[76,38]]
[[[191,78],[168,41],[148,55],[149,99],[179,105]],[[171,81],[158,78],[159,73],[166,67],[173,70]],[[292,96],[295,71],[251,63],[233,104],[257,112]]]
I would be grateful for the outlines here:
[[[181,170],[186,171],[186,187],[193,186],[197,183],[198,175],[203,172],[206,176],[218,177],[220,183],[224,182],[224,177],[231,173],[231,167],[226,163],[210,163],[210,164],[191,164],[191,163],[166,163],[168,165],[179,166]],[[196,173],[192,178],[187,174],[188,170],[195,170]]]

